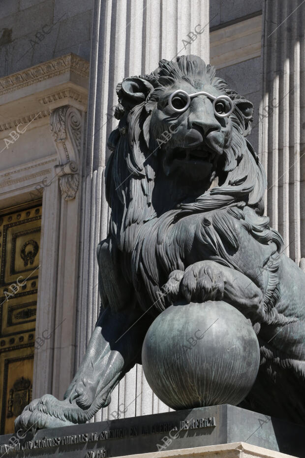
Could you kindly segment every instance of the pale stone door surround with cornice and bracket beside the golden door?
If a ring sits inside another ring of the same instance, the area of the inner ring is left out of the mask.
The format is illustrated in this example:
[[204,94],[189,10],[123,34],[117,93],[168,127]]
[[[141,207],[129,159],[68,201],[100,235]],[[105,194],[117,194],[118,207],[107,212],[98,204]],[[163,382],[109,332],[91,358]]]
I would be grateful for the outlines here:
[[88,62],[68,54],[0,79],[1,208],[42,197],[36,336],[62,323],[36,352],[34,394],[62,396],[74,373],[75,319],[68,318],[77,296],[88,78]]

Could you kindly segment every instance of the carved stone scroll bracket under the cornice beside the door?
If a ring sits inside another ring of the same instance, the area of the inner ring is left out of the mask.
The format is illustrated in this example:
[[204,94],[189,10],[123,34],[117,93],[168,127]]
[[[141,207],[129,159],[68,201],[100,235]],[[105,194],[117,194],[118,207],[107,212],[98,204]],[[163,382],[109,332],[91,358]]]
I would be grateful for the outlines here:
[[50,128],[60,161],[55,173],[59,176],[61,195],[71,200],[79,186],[82,115],[73,106],[56,108],[50,115]]

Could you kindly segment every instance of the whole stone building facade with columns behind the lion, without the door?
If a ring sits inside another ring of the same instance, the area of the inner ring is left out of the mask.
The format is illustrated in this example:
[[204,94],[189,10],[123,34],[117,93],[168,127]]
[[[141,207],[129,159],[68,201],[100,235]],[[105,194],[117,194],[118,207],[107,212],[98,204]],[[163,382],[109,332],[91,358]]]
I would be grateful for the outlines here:
[[[1,2],[0,210],[30,202],[42,186],[36,336],[55,329],[35,354],[33,397],[62,397],[89,341],[99,308],[95,248],[108,224],[103,171],[117,123],[116,84],[152,71],[160,58],[192,53],[209,61],[211,53],[221,76],[254,103],[249,138],[268,170],[271,223],[303,265],[305,4],[283,4]],[[29,127],[6,148],[20,125]],[[95,421],[167,410],[138,365]]]

